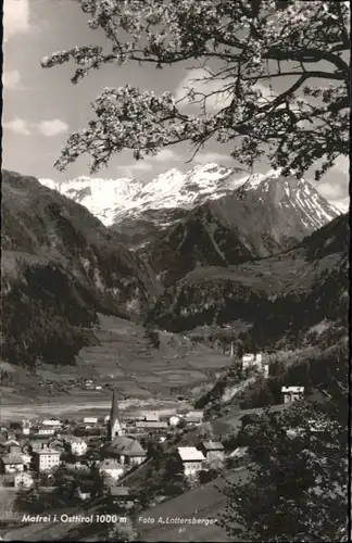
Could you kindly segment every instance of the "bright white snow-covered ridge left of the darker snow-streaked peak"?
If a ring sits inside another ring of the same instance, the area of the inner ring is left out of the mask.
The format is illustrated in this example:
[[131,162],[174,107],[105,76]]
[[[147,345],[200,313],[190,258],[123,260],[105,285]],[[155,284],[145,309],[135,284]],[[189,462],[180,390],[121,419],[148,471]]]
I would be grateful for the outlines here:
[[171,168],[149,182],[128,177],[92,179],[85,176],[64,182],[39,181],[87,206],[105,226],[118,226],[125,217],[134,215],[136,218],[136,214],[150,210],[189,210],[246,184],[255,186],[273,175],[280,175],[280,171],[238,178],[235,168],[205,163],[186,173]]

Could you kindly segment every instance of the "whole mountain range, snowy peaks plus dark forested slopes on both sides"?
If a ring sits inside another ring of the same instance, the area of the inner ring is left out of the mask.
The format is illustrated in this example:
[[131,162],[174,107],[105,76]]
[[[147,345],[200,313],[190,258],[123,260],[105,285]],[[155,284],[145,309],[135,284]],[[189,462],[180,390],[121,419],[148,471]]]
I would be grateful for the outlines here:
[[66,344],[72,363],[97,313],[174,332],[246,321],[264,342],[343,320],[348,215],[310,181],[216,164],[148,184],[2,178],[8,362],[50,363]]

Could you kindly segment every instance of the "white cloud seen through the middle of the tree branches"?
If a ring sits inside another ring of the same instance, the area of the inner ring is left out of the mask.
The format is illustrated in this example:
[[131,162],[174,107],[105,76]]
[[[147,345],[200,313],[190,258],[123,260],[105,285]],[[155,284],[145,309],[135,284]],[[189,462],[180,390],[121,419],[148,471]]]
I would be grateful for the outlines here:
[[[221,89],[224,87],[224,81],[216,79],[212,81],[206,81],[204,79],[208,76],[209,74],[203,68],[191,70],[176,88],[175,90],[176,100],[181,100],[183,98],[185,98],[189,90],[187,89],[187,87],[190,87],[194,89],[196,92],[204,92],[204,93],[206,92],[208,94],[211,92],[216,92],[216,94],[211,96],[206,99],[206,108],[209,110],[217,111],[223,108],[226,108],[226,105],[229,105],[231,101],[230,94],[228,92],[221,91]],[[199,98],[201,97],[198,98],[196,97],[196,99]],[[198,104],[189,104],[189,105],[198,106]]]

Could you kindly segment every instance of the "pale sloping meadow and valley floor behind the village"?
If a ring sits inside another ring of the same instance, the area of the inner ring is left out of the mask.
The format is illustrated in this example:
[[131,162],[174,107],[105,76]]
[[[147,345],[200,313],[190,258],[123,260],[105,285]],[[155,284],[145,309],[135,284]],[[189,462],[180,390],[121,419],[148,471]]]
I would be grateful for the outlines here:
[[[76,366],[41,365],[34,375],[2,363],[10,378],[0,386],[0,418],[106,414],[114,389],[126,407],[174,408],[178,395],[193,400],[230,364],[228,356],[169,332],[160,331],[155,349],[141,326],[117,317],[101,315],[96,336],[98,344],[85,346]],[[85,379],[101,390],[87,390]]]

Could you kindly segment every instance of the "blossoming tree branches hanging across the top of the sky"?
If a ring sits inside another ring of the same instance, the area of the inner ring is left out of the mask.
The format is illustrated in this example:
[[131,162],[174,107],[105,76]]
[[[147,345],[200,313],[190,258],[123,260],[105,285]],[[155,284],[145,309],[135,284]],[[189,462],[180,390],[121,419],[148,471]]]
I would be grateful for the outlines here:
[[[43,67],[73,62],[74,84],[106,64],[118,71],[126,63],[158,70],[188,63],[203,75],[179,99],[129,85],[102,89],[88,126],[63,148],[59,169],[88,154],[95,173],[118,151],[142,160],[185,141],[197,153],[211,139],[230,143],[247,167],[265,155],[272,167],[299,176],[314,165],[316,179],[348,155],[348,2],[74,1],[89,27],[104,31],[106,47],[56,52]],[[209,106],[214,98],[216,111]]]

